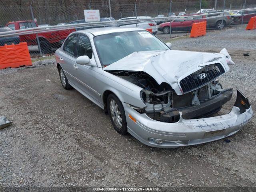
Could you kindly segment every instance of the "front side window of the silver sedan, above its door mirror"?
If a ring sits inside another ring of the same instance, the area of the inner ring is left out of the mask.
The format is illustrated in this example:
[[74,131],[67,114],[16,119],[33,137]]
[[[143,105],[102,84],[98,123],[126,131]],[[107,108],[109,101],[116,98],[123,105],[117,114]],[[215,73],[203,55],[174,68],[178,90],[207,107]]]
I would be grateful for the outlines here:
[[80,39],[77,45],[76,56],[87,55],[90,59],[92,58],[92,46],[88,37],[80,35]]

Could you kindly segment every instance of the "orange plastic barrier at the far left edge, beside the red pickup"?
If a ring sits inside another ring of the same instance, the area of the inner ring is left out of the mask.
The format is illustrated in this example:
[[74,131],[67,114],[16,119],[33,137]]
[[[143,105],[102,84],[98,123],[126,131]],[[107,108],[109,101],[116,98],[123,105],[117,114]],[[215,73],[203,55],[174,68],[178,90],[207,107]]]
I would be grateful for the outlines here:
[[22,42],[18,45],[0,46],[0,69],[31,66],[32,61],[28,45]]

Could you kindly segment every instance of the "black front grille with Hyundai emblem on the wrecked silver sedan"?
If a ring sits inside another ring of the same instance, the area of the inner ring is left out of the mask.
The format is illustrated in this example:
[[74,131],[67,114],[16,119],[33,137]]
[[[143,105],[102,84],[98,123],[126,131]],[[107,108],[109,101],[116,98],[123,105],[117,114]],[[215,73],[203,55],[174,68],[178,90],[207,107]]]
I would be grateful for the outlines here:
[[[201,73],[207,74],[205,78],[200,79],[199,75]],[[196,71],[189,76],[185,77],[180,81],[180,87],[182,88],[183,93],[196,90],[209,82],[212,82],[220,75],[224,74],[225,70],[220,63],[204,66],[204,68]]]

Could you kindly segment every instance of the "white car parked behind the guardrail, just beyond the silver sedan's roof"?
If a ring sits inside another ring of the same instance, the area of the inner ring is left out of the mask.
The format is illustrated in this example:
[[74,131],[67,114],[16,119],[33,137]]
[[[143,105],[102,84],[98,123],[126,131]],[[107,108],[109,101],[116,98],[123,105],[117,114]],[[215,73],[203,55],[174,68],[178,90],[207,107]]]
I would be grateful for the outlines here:
[[[145,18],[152,18],[150,16],[138,16],[137,19],[145,19]],[[136,17],[126,17],[126,18],[121,18],[118,19],[118,21],[122,21],[122,20],[131,20],[131,19],[136,19]],[[157,33],[157,26],[156,26],[156,22],[154,21],[150,21],[150,22],[133,22],[131,24],[120,24],[120,26],[124,26],[124,27],[136,27],[136,28],[142,28],[142,29],[152,29],[152,33],[156,34]]]

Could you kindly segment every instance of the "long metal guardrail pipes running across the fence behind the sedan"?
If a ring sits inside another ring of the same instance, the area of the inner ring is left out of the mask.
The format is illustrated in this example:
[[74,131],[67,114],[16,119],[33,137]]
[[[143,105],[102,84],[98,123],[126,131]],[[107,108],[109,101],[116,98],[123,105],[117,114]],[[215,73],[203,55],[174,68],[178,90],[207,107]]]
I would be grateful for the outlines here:
[[[241,9],[241,10],[232,10],[232,11],[221,11],[218,14],[230,13],[234,11],[254,11],[256,8],[252,9]],[[58,30],[70,30],[74,28],[82,28],[82,27],[104,27],[104,26],[120,26],[120,25],[129,25],[129,24],[136,24],[141,22],[157,22],[157,21],[166,21],[170,22],[172,20],[182,19],[184,20],[191,20],[191,18],[195,16],[210,16],[216,15],[214,13],[202,13],[202,14],[194,14],[194,15],[181,15],[181,16],[170,16],[170,17],[152,17],[152,18],[135,18],[129,20],[116,20],[116,21],[104,21],[104,22],[86,22],[80,24],[67,24],[67,25],[56,25],[56,26],[45,26],[45,27],[36,27],[36,28],[27,28],[21,30],[13,30],[8,32],[0,32],[0,37],[10,37],[10,36],[18,36],[18,35],[26,35],[26,34],[38,34],[43,32],[52,32]],[[250,14],[244,14],[250,15]],[[239,15],[243,16],[243,15]],[[216,16],[216,17],[223,17],[223,16]],[[200,20],[200,18],[196,19]]]

